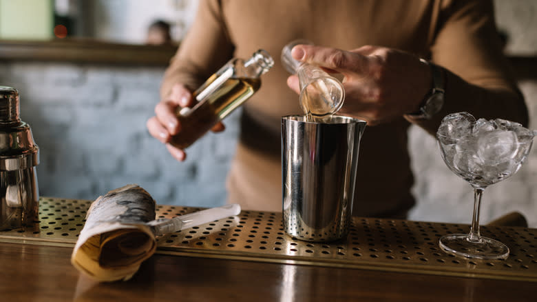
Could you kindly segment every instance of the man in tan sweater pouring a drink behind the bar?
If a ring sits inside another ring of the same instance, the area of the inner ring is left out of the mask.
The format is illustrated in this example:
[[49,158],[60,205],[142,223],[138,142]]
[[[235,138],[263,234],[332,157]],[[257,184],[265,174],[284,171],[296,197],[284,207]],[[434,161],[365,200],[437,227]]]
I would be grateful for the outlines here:
[[[259,48],[275,57],[296,39],[316,46],[295,46],[295,59],[344,76],[339,113],[370,125],[361,139],[355,216],[404,219],[414,206],[407,146],[412,123],[434,134],[445,115],[466,111],[527,125],[492,1],[204,0],[165,72],[149,132],[185,160],[185,150],[168,142],[181,130],[174,112],[192,104],[191,92],[232,57]],[[280,119],[302,114],[297,91],[297,77],[276,61],[244,104],[227,177],[230,202],[281,210]],[[223,129],[221,123],[213,128]]]

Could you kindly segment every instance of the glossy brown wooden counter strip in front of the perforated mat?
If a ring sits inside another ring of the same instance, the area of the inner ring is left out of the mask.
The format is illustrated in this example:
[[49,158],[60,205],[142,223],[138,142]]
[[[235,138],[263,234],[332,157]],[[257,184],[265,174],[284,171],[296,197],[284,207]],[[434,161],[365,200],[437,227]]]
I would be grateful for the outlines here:
[[537,284],[155,254],[96,283],[71,248],[0,243],[0,301],[535,301]]

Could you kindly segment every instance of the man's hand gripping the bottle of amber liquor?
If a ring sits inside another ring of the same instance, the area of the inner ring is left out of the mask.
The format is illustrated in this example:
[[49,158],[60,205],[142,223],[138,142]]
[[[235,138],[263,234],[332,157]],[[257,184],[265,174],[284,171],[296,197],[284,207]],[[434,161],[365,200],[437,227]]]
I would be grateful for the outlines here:
[[[187,154],[184,150],[173,147],[169,141],[173,135],[181,131],[180,122],[176,116],[178,107],[189,107],[193,104],[193,97],[185,85],[176,84],[171,88],[171,93],[155,106],[155,117],[147,120],[149,134],[161,143],[166,144],[168,152],[178,161],[185,161]],[[224,130],[224,124],[217,123],[211,129],[213,132]]]

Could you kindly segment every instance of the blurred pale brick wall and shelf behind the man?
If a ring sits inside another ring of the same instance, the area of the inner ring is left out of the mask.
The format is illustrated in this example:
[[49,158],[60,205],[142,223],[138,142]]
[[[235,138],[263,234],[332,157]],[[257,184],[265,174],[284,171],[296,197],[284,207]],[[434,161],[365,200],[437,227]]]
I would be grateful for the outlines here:
[[[537,1],[494,3],[536,129]],[[224,203],[239,112],[227,118],[224,133],[194,144],[184,163],[145,128],[166,63],[197,6],[198,0],[0,0],[0,85],[19,90],[21,118],[41,148],[41,196],[96,199],[138,183],[162,204]],[[152,24],[167,24],[169,38],[149,39]],[[63,56],[54,48],[59,40],[76,55]],[[105,59],[100,50],[109,52]],[[445,166],[434,138],[411,128],[410,150],[418,199],[410,219],[470,223],[473,192]],[[534,146],[518,174],[485,190],[481,221],[520,211],[537,228],[536,181]]]

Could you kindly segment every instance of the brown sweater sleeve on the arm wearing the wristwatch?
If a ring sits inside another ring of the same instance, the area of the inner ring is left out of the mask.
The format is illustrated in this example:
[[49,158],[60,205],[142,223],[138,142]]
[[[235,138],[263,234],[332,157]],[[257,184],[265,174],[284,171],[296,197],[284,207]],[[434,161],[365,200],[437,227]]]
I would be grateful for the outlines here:
[[445,115],[466,111],[527,126],[527,108],[503,56],[492,2],[448,1],[439,11],[431,60],[445,71],[445,103],[434,119],[411,122],[435,134]]

